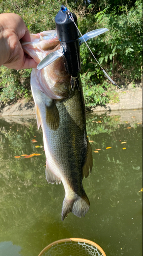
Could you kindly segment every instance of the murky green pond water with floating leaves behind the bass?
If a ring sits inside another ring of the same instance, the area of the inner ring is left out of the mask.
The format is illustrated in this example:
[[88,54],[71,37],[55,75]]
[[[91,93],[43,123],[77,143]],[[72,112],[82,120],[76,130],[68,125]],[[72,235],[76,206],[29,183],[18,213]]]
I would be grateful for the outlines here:
[[[141,111],[87,115],[93,169],[83,186],[91,207],[63,222],[64,187],[45,179],[35,116],[3,117],[0,127],[0,256],[38,256],[63,238],[92,240],[106,256],[142,255]],[[21,156],[33,153],[41,155]]]

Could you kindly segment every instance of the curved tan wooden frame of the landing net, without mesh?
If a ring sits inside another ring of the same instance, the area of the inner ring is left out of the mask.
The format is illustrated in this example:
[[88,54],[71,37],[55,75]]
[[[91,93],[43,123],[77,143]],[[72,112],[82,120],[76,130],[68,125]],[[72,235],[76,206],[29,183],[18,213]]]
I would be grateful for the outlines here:
[[64,243],[64,242],[81,242],[81,243],[87,243],[89,245],[92,245],[94,247],[96,247],[101,253],[103,256],[106,256],[105,252],[103,251],[103,249],[98,245],[96,244],[95,242],[93,241],[90,241],[90,240],[87,240],[87,239],[83,239],[83,238],[66,238],[66,239],[60,239],[60,240],[57,240],[57,241],[54,241],[52,242],[51,244],[47,245],[41,252],[38,256],[42,256],[44,252],[46,252],[49,248],[51,248],[52,246],[54,245],[57,245],[57,244],[60,244],[60,243]]

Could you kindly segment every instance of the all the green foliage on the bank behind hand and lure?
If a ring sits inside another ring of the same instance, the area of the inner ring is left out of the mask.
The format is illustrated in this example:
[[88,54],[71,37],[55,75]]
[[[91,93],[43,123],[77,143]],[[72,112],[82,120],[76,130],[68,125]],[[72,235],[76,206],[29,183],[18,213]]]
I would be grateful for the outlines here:
[[[82,34],[98,28],[108,32],[88,41],[88,44],[107,74],[119,85],[141,80],[142,66],[142,2],[141,0],[60,1],[1,0],[0,13],[19,14],[31,33],[55,29],[54,18],[61,4],[75,12]],[[89,49],[82,44],[81,78],[85,104],[90,107],[116,102],[118,95],[109,84]],[[7,103],[21,97],[30,97],[31,70],[0,68],[0,100]]]

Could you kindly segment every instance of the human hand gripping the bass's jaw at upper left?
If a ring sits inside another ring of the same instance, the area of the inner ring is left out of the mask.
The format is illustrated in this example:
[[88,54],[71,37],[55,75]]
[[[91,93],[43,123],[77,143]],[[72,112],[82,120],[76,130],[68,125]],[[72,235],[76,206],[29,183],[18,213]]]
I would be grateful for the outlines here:
[[23,19],[15,13],[0,14],[0,66],[16,70],[37,67],[35,60],[24,53],[20,39],[31,41]]

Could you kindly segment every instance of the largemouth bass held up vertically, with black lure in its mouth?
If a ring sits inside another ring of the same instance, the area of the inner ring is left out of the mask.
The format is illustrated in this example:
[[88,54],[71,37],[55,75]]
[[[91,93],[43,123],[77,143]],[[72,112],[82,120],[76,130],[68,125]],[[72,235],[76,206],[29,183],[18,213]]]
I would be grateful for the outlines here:
[[[31,35],[23,42],[24,51],[39,63],[49,53],[60,49],[55,31]],[[78,87],[71,88],[63,57],[42,70],[33,69],[31,89],[36,106],[38,129],[43,131],[46,155],[46,179],[65,189],[62,220],[69,212],[81,217],[90,207],[82,186],[92,170],[92,149],[87,138],[85,107],[80,76]]]

